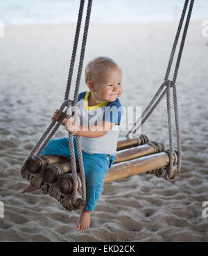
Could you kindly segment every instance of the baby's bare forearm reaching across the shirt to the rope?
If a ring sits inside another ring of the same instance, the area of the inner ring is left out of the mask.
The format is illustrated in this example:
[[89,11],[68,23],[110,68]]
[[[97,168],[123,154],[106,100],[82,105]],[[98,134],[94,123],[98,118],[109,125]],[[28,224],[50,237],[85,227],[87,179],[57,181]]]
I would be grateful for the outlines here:
[[97,138],[107,134],[107,132],[110,131],[114,125],[115,124],[113,122],[103,121],[98,125],[86,127],[83,125],[78,125],[73,118],[69,118],[65,127],[67,131],[70,131],[72,134],[89,138]]

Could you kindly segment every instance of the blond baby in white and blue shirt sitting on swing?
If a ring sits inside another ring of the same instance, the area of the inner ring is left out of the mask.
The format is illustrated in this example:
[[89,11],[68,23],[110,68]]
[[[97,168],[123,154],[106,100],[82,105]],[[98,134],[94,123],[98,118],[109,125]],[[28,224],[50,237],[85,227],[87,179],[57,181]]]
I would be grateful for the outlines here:
[[[83,163],[86,179],[86,205],[81,211],[77,230],[87,230],[90,216],[103,192],[103,181],[116,157],[116,144],[119,137],[121,116],[123,114],[119,97],[122,93],[122,72],[115,61],[98,57],[85,68],[85,82],[89,91],[78,95],[77,106],[80,123],[73,118],[65,118],[62,125],[73,136],[76,159],[76,135],[81,136]],[[58,120],[58,110],[52,120]],[[55,154],[70,159],[69,138],[52,139],[41,154]],[[22,193],[36,188],[29,185]]]

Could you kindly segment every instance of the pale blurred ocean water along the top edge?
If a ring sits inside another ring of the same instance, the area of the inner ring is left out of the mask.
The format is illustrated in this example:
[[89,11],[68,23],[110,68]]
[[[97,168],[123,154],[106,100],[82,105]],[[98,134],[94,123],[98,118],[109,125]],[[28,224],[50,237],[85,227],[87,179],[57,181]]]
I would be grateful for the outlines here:
[[[0,1],[0,22],[5,25],[76,22],[79,3],[79,0]],[[92,22],[171,21],[179,18],[183,4],[184,0],[94,0]],[[207,0],[196,0],[192,18],[208,18]]]

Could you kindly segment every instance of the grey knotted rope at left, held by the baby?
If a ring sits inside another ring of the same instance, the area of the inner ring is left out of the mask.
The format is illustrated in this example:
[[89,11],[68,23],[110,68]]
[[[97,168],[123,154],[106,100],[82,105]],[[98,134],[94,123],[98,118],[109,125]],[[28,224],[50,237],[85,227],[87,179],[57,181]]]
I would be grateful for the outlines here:
[[[20,168],[20,173],[23,177],[27,176],[24,175],[24,172],[26,171],[26,162],[28,159],[33,157],[33,155],[36,153],[36,155],[40,155],[46,144],[50,141],[51,137],[55,134],[55,131],[57,131],[58,127],[60,127],[62,121],[67,115],[67,111],[64,111],[65,107],[70,108],[71,106],[75,106],[76,102],[78,100],[78,90],[80,87],[80,79],[81,79],[81,74],[83,70],[83,61],[84,61],[84,56],[85,56],[85,47],[86,47],[86,42],[87,42],[87,33],[89,29],[89,19],[90,19],[90,14],[91,14],[91,9],[92,9],[92,0],[88,1],[88,6],[87,6],[87,15],[85,19],[85,29],[83,33],[83,43],[81,47],[81,53],[80,53],[80,61],[79,61],[79,66],[78,66],[78,74],[77,74],[77,79],[76,79],[76,88],[74,91],[73,95],[73,102],[69,100],[69,92],[71,88],[71,80],[73,76],[73,68],[74,68],[74,63],[76,59],[76,52],[78,48],[78,39],[80,35],[80,26],[83,18],[83,9],[84,9],[84,4],[85,0],[80,0],[80,7],[79,7],[79,12],[78,12],[78,21],[76,25],[76,33],[75,33],[75,38],[73,41],[73,50],[71,54],[71,62],[69,66],[69,74],[68,74],[68,79],[67,79],[67,88],[65,91],[64,95],[64,102],[60,106],[58,115],[58,121],[54,120],[51,121],[49,124],[49,127],[46,128],[44,131],[44,134],[41,136],[41,138],[37,141],[37,143],[34,145],[33,149],[31,152],[29,152],[28,156],[24,160],[24,163],[22,164]],[[64,111],[64,112],[63,112]],[[77,120],[77,116],[75,116]],[[76,136],[76,143],[77,143],[77,148],[78,148],[78,163],[79,163],[79,168],[80,168],[80,177],[82,181],[82,196],[83,200],[86,200],[86,186],[85,186],[85,170],[84,170],[84,165],[83,165],[83,155],[82,155],[82,149],[81,149],[81,143],[80,143],[80,138]],[[72,174],[73,174],[73,199],[72,199],[72,204],[76,202],[76,199],[78,198],[78,191],[77,191],[77,171],[76,171],[76,157],[75,157],[75,152],[74,152],[74,147],[73,147],[73,135],[69,133],[69,148],[70,148],[70,154],[71,154],[71,166],[72,166]],[[29,177],[28,177],[29,178]]]

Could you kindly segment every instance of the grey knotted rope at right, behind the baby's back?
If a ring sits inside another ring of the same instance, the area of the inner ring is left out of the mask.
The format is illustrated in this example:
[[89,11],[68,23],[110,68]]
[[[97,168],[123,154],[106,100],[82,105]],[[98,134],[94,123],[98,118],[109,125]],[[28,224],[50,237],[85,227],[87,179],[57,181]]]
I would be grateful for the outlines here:
[[[175,40],[173,42],[173,47],[172,47],[172,50],[171,50],[171,56],[170,56],[169,61],[168,61],[168,67],[167,67],[167,70],[166,70],[164,83],[162,83],[162,85],[159,87],[159,89],[157,90],[157,93],[155,94],[153,99],[150,101],[148,106],[146,106],[144,111],[141,113],[141,116],[139,117],[137,122],[135,122],[135,124],[130,129],[130,131],[128,131],[128,134],[126,134],[127,137],[132,136],[132,134],[136,134],[138,129],[141,127],[141,125],[143,125],[144,122],[150,116],[150,114],[153,113],[156,106],[162,100],[164,95],[166,95],[167,115],[168,115],[168,134],[169,134],[169,147],[170,147],[170,150],[169,150],[170,163],[169,163],[169,168],[167,170],[168,177],[171,177],[172,174],[173,174],[173,131],[172,131],[172,124],[171,124],[171,97],[170,97],[170,89],[171,88],[173,88],[173,106],[174,106],[174,114],[175,114],[175,130],[176,130],[176,136],[177,136],[177,154],[178,154],[177,171],[180,172],[180,169],[181,169],[182,147],[181,147],[180,126],[179,126],[178,111],[177,111],[177,90],[176,90],[175,82],[176,82],[177,73],[178,73],[178,70],[179,70],[179,67],[180,67],[180,61],[181,61],[182,52],[183,52],[183,48],[184,48],[184,42],[185,42],[186,37],[187,37],[187,31],[188,31],[188,28],[189,28],[189,21],[190,21],[191,13],[192,13],[192,10],[193,10],[193,3],[194,3],[194,0],[191,0],[190,4],[189,4],[189,0],[186,0],[184,2],[182,15],[180,17],[180,22],[179,22],[179,25],[177,27]],[[171,67],[172,67],[172,64],[173,64],[173,58],[175,56],[175,49],[177,47],[177,42],[178,42],[181,30],[182,30],[182,24],[184,22],[184,16],[187,13],[188,4],[189,4],[189,11],[188,11],[187,19],[186,19],[186,22],[185,22],[185,25],[184,25],[184,31],[183,31],[182,40],[181,40],[181,43],[180,43],[180,49],[179,49],[178,55],[177,55],[177,61],[176,61],[175,70],[174,70],[174,74],[173,74],[173,81],[170,81],[170,80],[168,80],[168,77],[169,77],[169,74],[171,72]]]

